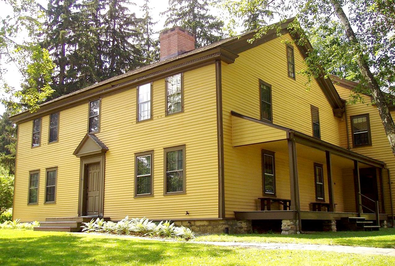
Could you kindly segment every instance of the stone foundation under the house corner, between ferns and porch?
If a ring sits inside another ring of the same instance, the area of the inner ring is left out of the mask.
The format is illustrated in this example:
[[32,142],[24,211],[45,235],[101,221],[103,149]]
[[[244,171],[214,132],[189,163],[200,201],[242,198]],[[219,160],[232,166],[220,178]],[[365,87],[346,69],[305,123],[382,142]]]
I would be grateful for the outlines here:
[[174,221],[177,226],[190,228],[197,234],[202,233],[229,233],[229,234],[249,234],[252,233],[251,220],[183,220]]

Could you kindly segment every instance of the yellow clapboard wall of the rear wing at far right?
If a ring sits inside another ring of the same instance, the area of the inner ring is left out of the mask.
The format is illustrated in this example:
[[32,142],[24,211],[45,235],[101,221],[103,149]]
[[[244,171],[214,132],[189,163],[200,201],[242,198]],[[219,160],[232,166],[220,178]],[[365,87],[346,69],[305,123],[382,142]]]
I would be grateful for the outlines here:
[[[340,97],[344,100],[349,100],[352,91],[346,87],[340,86],[339,84],[335,84],[335,87],[340,95]],[[395,157],[392,154],[391,148],[389,146],[389,142],[382,125],[382,121],[380,119],[380,115],[378,114],[378,110],[376,106],[371,105],[371,97],[363,96],[363,103],[357,102],[356,104],[347,104],[347,126],[348,126],[348,137],[349,137],[349,145],[352,151],[356,153],[360,153],[371,158],[383,161],[386,163],[387,167],[391,171],[391,189],[393,191],[393,204],[395,205]],[[371,128],[371,138],[372,145],[364,146],[364,147],[352,147],[352,132],[351,132],[351,121],[350,116],[359,115],[369,113],[370,120],[370,128]],[[393,117],[395,117],[392,114]],[[347,147],[347,139],[346,139],[346,119],[343,116],[343,119],[339,122],[339,132],[343,137],[342,146]],[[389,184],[387,176],[383,176],[383,185],[384,185],[384,199],[385,199],[385,209],[387,213],[391,213],[390,207],[390,195],[389,195]],[[381,202],[380,202],[381,204]]]

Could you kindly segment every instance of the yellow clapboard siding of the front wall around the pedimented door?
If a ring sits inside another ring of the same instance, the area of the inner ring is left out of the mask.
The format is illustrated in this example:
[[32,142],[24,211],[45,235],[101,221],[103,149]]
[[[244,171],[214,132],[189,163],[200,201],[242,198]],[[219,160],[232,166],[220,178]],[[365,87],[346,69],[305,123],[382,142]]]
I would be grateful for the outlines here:
[[[218,148],[215,65],[184,73],[184,112],[165,116],[164,79],[153,82],[153,120],[136,124],[136,89],[103,97],[100,133],[107,145],[104,216],[150,219],[218,218]],[[15,216],[23,220],[77,216],[79,158],[72,155],[87,132],[88,103],[60,112],[59,142],[30,148],[32,122],[22,123],[18,145]],[[186,145],[186,194],[163,195],[166,147]],[[134,153],[154,150],[154,196],[134,198]],[[56,204],[43,204],[45,167],[58,166]],[[28,171],[40,169],[38,205],[27,206]],[[188,211],[190,214],[186,216]]]

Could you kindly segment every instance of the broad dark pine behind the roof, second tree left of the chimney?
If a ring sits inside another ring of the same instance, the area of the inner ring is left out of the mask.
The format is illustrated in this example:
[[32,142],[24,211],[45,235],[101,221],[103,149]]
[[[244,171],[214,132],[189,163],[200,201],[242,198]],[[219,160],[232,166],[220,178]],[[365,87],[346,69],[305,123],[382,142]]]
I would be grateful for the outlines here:
[[143,65],[143,54],[137,47],[141,32],[135,13],[127,6],[130,0],[108,0],[104,15],[105,33],[103,59],[106,67],[104,77],[111,78]]

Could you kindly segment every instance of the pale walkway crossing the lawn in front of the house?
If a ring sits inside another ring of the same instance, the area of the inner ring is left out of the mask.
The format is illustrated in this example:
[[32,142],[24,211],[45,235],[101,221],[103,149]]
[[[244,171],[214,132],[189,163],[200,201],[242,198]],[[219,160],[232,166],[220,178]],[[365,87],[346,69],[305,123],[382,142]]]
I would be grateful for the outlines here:
[[[85,233],[74,233],[85,234]],[[154,240],[162,242],[177,242],[177,243],[190,243],[190,244],[203,244],[222,247],[243,247],[243,248],[256,248],[256,249],[288,249],[288,250],[313,250],[313,251],[329,251],[339,253],[355,253],[361,255],[386,255],[395,256],[395,249],[381,248],[381,247],[350,247],[340,245],[324,245],[324,244],[290,244],[290,243],[246,243],[246,242],[209,242],[209,241],[177,241],[171,239],[149,238],[141,236],[122,236],[113,234],[100,234],[89,233],[90,235],[96,234],[101,236],[111,236],[115,238],[134,238],[139,240]],[[395,243],[394,243],[395,244]]]

